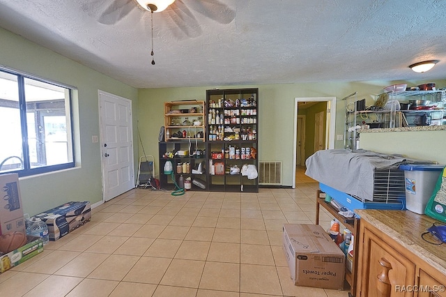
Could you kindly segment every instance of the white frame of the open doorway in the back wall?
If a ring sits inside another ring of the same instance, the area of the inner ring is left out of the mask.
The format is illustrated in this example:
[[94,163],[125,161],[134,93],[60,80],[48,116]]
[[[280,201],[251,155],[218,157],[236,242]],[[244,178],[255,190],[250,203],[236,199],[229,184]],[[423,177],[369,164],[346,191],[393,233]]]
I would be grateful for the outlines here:
[[[334,148],[334,133],[336,132],[336,97],[304,97],[294,98],[294,136],[293,136],[293,189],[295,188],[295,167],[297,162],[298,141],[298,102],[327,102],[327,119],[325,120],[325,148]],[[330,128],[331,127],[331,128]]]

